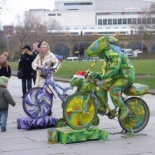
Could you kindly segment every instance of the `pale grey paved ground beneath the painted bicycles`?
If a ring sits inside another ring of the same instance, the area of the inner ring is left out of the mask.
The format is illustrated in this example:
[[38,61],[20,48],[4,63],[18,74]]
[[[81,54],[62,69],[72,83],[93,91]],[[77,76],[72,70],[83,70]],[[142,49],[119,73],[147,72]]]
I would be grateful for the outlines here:
[[[58,82],[59,83],[59,82]],[[68,83],[60,83],[62,86]],[[155,154],[155,96],[145,95],[144,100],[150,108],[150,120],[147,127],[141,132],[147,136],[123,138],[122,134],[109,135],[107,141],[89,141],[74,144],[48,144],[47,130],[19,130],[17,118],[27,117],[22,109],[21,81],[11,77],[8,89],[17,105],[9,109],[7,132],[0,132],[0,155],[154,155]],[[72,93],[72,91],[70,91]],[[109,101],[111,104],[111,101]],[[54,99],[53,116],[62,117],[61,102]],[[101,129],[111,133],[121,131],[117,119],[109,120],[106,116],[100,117]]]

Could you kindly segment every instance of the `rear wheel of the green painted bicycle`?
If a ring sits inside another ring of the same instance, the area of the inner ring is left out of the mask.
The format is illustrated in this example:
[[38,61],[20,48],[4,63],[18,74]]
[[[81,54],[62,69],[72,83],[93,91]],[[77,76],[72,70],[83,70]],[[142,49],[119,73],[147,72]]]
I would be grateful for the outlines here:
[[124,120],[119,120],[120,126],[126,132],[138,133],[142,131],[150,117],[150,111],[146,102],[141,98],[131,97],[125,100],[125,103],[130,112]]

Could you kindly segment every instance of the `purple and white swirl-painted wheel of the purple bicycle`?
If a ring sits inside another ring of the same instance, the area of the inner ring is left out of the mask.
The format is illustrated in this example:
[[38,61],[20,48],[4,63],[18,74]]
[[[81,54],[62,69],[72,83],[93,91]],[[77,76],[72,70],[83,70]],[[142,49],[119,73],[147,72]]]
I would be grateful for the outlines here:
[[23,99],[23,109],[31,118],[41,118],[46,116],[52,107],[53,98],[41,87],[30,89]]

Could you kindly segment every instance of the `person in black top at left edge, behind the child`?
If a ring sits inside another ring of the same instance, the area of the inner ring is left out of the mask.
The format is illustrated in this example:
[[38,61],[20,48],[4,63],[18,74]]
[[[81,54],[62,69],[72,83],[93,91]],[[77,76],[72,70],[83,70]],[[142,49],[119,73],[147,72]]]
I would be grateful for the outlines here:
[[11,77],[11,68],[4,54],[0,56],[0,76]]

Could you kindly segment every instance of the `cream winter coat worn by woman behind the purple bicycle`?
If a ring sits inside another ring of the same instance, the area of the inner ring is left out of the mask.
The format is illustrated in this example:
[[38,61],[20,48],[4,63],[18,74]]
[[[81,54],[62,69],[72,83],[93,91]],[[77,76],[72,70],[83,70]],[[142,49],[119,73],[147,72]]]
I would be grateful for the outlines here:
[[[53,53],[49,51],[43,58],[41,58],[41,55],[39,53],[35,60],[32,62],[32,68],[37,72],[35,87],[42,87],[45,83],[45,78],[40,77],[41,69],[37,69],[37,67],[40,65],[46,65],[46,63],[51,63],[51,66],[53,68],[57,67],[57,70],[60,67],[60,62]],[[53,76],[51,78],[53,79]]]

